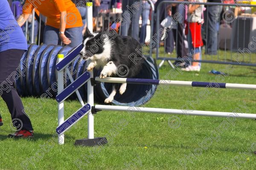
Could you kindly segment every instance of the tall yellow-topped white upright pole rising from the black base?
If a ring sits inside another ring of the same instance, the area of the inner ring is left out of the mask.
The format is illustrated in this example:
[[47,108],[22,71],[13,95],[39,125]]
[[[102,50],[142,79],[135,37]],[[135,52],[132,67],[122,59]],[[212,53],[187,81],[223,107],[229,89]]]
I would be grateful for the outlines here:
[[[87,28],[92,33],[93,32],[93,3],[86,3],[87,6]],[[88,66],[88,63],[87,63]],[[93,77],[93,71],[90,71],[90,77]],[[93,101],[93,86],[91,81],[87,82],[87,102],[90,106],[94,106]],[[88,114],[88,139],[94,138],[94,116],[92,113]]]

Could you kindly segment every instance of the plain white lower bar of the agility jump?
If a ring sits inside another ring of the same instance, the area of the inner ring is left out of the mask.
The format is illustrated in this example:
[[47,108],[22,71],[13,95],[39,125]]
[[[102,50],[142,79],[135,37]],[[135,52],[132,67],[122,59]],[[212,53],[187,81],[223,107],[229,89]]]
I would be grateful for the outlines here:
[[165,113],[165,114],[179,114],[191,116],[214,116],[214,117],[236,117],[244,119],[256,119],[256,114],[250,113],[232,113],[232,112],[217,112],[217,111],[187,111],[178,109],[164,109],[164,108],[143,108],[130,106],[111,106],[111,105],[95,105],[96,109],[102,111],[127,111],[133,112],[147,112],[147,113]]

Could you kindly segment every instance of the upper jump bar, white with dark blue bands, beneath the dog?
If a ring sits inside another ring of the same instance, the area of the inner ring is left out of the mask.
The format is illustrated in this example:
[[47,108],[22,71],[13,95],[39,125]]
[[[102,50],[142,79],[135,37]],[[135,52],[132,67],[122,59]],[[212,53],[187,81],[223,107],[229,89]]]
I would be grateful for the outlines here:
[[190,81],[177,81],[177,80],[158,80],[158,79],[132,79],[132,78],[119,78],[119,77],[106,77],[100,79],[95,77],[99,82],[111,83],[128,83],[128,84],[143,84],[143,85],[179,85],[189,87],[209,87],[209,88],[233,88],[233,89],[251,89],[256,90],[256,85],[250,84],[236,84],[236,83],[216,83],[216,82],[190,82]]

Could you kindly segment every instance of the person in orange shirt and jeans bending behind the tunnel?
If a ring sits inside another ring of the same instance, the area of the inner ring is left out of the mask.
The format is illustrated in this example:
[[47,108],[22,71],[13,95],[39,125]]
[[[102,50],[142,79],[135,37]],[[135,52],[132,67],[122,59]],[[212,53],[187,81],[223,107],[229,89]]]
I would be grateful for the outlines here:
[[29,18],[33,8],[47,17],[44,29],[44,44],[59,45],[63,42],[70,47],[81,44],[82,18],[71,0],[26,0],[23,14],[17,20],[20,26]]

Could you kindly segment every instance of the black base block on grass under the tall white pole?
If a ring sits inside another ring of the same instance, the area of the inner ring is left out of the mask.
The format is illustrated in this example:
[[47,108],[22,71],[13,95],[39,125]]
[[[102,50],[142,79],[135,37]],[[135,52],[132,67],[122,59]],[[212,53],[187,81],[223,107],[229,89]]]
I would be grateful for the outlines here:
[[75,145],[77,146],[96,146],[96,145],[103,145],[107,144],[107,138],[94,138],[94,139],[79,139],[76,140]]

